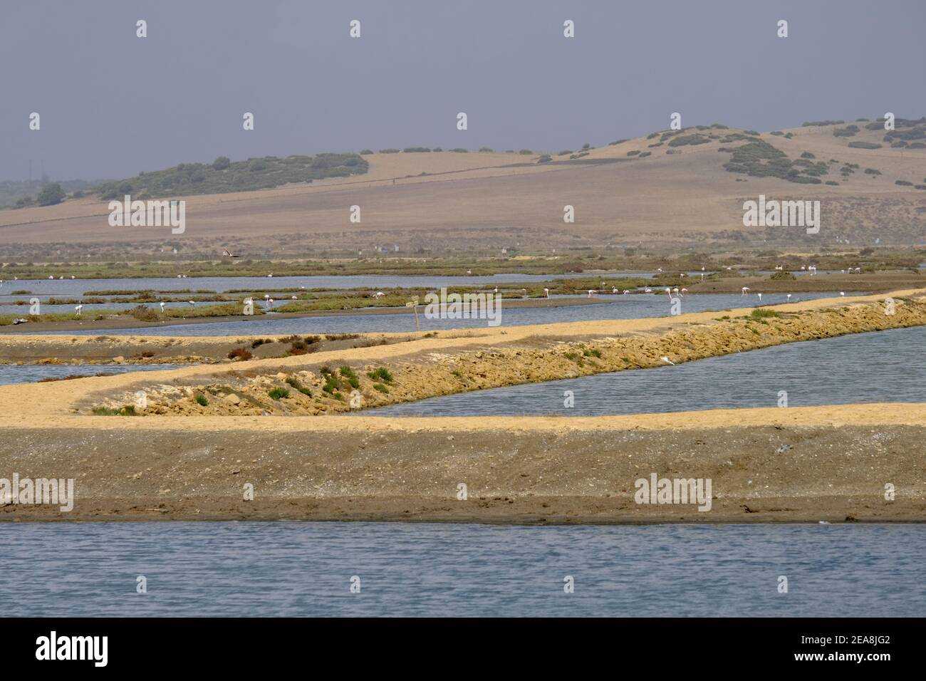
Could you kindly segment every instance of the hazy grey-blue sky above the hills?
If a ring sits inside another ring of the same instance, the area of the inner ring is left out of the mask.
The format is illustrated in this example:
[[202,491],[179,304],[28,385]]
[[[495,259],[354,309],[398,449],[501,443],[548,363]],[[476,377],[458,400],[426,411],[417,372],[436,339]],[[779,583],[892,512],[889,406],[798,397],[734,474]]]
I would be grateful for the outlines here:
[[219,155],[555,151],[673,111],[761,131],[920,118],[924,30],[924,0],[3,0],[0,179],[30,159],[33,176],[95,179]]

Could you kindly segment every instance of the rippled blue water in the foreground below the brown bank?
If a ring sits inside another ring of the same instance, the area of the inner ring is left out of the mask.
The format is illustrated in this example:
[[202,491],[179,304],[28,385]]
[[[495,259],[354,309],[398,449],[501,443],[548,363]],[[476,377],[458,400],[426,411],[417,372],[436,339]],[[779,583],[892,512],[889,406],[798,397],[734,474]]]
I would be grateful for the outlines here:
[[926,607],[926,528],[913,524],[0,523],[0,544],[13,617],[902,617]]

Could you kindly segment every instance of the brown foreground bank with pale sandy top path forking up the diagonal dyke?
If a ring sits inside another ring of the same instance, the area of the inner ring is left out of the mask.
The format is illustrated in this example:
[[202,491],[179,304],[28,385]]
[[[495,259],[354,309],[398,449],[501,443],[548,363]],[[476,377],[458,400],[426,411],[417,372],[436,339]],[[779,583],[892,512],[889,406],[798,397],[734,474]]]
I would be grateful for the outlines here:
[[[882,315],[880,322],[865,303],[882,296],[777,309],[821,310],[807,320],[842,320],[848,324],[844,333],[852,333],[874,323],[923,323],[922,303],[909,300],[923,293],[895,292],[897,317]],[[822,311],[827,308],[835,311]],[[733,310],[731,316],[750,311]],[[663,342],[667,334],[702,325],[716,332],[726,323],[715,322],[717,315],[461,332],[248,364],[294,371],[320,361],[379,363],[468,345],[500,350],[537,337],[633,334],[635,340],[650,334],[650,341]],[[156,373],[162,382],[201,381],[215,368]],[[0,476],[74,477],[77,486],[71,513],[7,505],[0,518],[926,521],[922,404],[596,418],[128,418],[73,412],[137,383],[138,377],[112,376],[0,387]],[[650,473],[711,478],[711,511],[635,504],[634,481]],[[253,501],[243,500],[247,483],[254,486]],[[460,483],[468,486],[467,500],[457,499]],[[893,501],[884,499],[888,484],[896,488]]]

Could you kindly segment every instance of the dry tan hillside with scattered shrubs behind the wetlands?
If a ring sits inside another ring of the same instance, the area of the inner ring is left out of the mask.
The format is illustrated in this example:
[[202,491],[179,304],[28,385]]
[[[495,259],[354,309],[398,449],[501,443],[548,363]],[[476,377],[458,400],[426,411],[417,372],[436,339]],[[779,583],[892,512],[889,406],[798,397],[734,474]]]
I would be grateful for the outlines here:
[[[607,244],[920,244],[926,238],[926,148],[895,148],[883,130],[834,136],[848,125],[771,134],[700,126],[656,133],[549,161],[504,153],[401,153],[366,156],[369,172],[272,190],[181,197],[186,232],[110,227],[94,198],[47,208],[0,211],[5,259],[93,255],[117,244],[125,258],[178,247],[184,254],[237,248],[245,257],[319,252],[531,252]],[[898,131],[901,128],[898,127]],[[680,137],[700,135],[703,144]],[[725,170],[732,149],[753,140],[791,161],[825,167],[820,183],[794,183]],[[724,141],[728,140],[728,141]],[[849,143],[882,145],[853,148]],[[648,156],[644,156],[648,153]],[[802,154],[807,158],[801,159]],[[868,170],[868,171],[866,171]],[[898,185],[901,181],[909,184]],[[743,202],[820,200],[820,233],[743,226]],[[349,220],[359,206],[361,222]],[[564,206],[575,222],[563,221]]]

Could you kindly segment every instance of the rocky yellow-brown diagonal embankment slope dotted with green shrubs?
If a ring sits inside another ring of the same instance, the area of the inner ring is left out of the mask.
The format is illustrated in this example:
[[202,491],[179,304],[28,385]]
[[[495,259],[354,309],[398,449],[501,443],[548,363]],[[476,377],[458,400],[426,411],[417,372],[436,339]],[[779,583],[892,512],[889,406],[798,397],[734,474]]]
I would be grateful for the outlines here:
[[[448,337],[171,373],[169,381],[164,374],[142,374],[122,390],[101,390],[73,407],[81,413],[120,410],[144,390],[145,416],[316,415],[926,324],[926,300],[899,296],[893,315],[885,314],[879,301],[782,308],[769,311],[775,315],[769,317],[740,314],[745,311],[690,315],[684,322],[663,318],[512,327],[457,338],[443,332]],[[383,371],[386,380],[377,378]],[[282,391],[284,397],[274,396]]]

